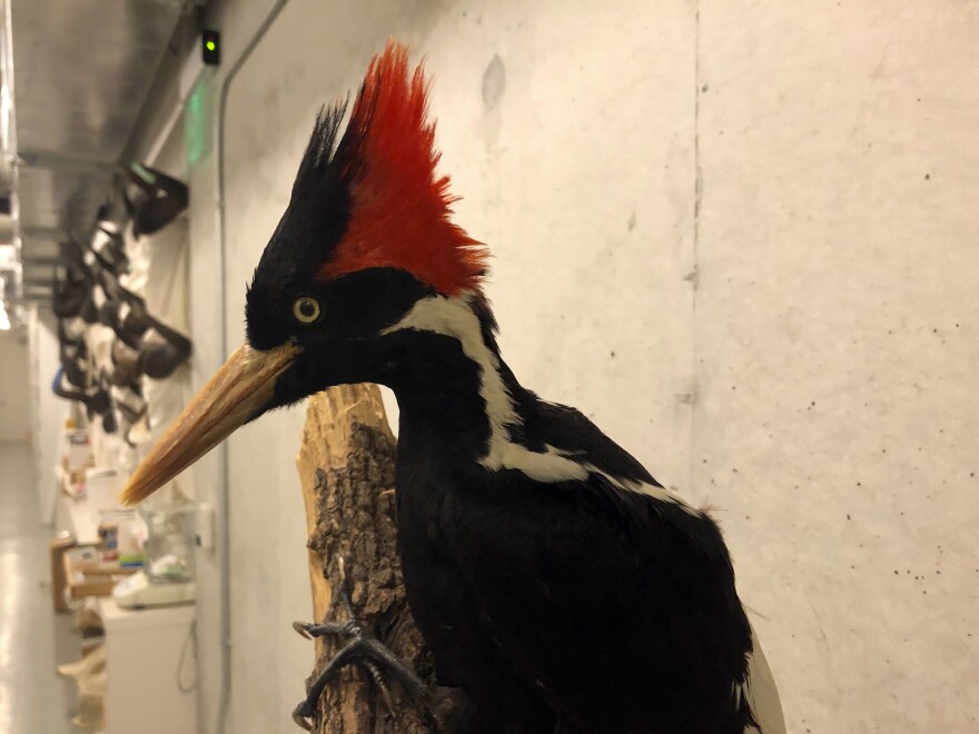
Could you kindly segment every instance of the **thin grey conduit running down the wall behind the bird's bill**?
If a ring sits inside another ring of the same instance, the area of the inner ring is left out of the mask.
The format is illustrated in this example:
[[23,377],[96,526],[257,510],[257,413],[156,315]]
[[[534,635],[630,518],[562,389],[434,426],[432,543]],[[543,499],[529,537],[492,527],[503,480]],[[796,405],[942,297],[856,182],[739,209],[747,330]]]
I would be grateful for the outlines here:
[[[225,222],[227,212],[225,208],[225,115],[227,113],[228,93],[231,90],[231,83],[241,71],[245,62],[265,38],[268,29],[278,18],[283,8],[289,0],[276,0],[269,8],[261,23],[255,30],[245,49],[235,60],[228,73],[221,81],[220,92],[218,93],[218,108],[215,116],[215,196],[217,197],[217,239],[219,242],[219,267],[220,267],[220,340],[221,354],[228,354],[228,300],[227,300],[227,231]],[[231,534],[230,534],[230,487],[228,480],[230,477],[228,443],[220,444],[220,479],[219,479],[219,502],[218,517],[224,527],[221,528],[221,697],[218,703],[218,734],[225,734],[228,724],[228,712],[231,700]]]

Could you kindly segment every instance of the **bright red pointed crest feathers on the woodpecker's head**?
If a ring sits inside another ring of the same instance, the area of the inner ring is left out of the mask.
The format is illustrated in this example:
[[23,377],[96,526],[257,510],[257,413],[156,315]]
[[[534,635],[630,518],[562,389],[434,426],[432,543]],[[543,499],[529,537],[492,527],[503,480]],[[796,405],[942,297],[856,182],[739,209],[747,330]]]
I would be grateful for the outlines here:
[[322,277],[392,267],[447,296],[478,287],[488,254],[451,221],[457,197],[448,176],[435,172],[441,153],[427,108],[422,66],[409,75],[407,47],[388,41],[367,68],[344,135],[344,143],[356,141],[350,215]]

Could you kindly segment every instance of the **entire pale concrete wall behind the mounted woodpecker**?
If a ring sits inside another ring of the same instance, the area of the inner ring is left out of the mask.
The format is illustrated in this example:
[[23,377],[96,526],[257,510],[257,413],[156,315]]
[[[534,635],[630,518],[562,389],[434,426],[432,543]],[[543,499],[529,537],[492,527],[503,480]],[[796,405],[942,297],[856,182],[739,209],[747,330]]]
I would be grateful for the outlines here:
[[[212,4],[212,90],[268,7]],[[291,0],[229,99],[225,272],[214,157],[189,176],[194,385],[225,357],[222,313],[243,336],[315,109],[395,34],[428,56],[504,355],[716,507],[790,731],[968,731],[977,32],[951,0]],[[301,420],[229,443],[238,734],[286,731],[310,666],[288,626],[309,609]],[[215,502],[220,456],[195,479]],[[204,732],[218,562],[199,564]]]

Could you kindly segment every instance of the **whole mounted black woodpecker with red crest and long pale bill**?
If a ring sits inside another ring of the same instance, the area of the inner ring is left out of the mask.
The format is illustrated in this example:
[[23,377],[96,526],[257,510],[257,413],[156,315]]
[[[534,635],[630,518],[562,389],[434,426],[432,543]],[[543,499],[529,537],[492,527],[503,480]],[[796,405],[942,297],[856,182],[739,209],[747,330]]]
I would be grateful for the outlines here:
[[[125,502],[273,408],[333,385],[387,385],[400,408],[408,604],[439,683],[471,707],[446,728],[784,732],[714,522],[503,361],[481,286],[487,250],[451,220],[426,81],[405,47],[372,61],[344,127],[345,116],[339,103],[316,121],[248,289],[246,344]],[[358,647],[365,665],[417,693],[378,647]]]

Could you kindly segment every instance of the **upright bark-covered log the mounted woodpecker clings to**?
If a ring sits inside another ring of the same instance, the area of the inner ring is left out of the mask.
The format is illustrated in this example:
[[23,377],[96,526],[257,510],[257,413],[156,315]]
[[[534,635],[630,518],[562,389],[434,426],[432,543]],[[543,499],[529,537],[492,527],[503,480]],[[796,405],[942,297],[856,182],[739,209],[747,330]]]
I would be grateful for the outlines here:
[[[317,623],[325,621],[342,557],[347,589],[359,621],[432,684],[432,656],[405,601],[397,555],[395,457],[395,439],[376,386],[334,387],[309,399],[297,465],[309,530],[313,615]],[[346,621],[342,606],[335,614],[335,621]],[[325,637],[316,641],[314,675],[342,645],[343,641]],[[395,702],[394,715],[362,666],[343,669],[320,697],[313,731],[435,731],[426,726],[397,684],[388,685]]]

